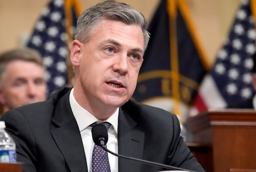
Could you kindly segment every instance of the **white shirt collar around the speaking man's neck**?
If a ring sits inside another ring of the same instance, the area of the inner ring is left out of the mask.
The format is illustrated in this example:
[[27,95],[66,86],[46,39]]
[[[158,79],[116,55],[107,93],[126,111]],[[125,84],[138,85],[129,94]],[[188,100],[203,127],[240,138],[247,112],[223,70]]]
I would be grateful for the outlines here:
[[74,97],[74,88],[70,91],[70,107],[71,110],[76,118],[76,122],[79,127],[79,131],[81,132],[86,127],[90,126],[90,124],[93,124],[96,121],[99,122],[109,122],[112,126],[115,132],[117,133],[117,127],[118,127],[118,114],[119,114],[119,108],[116,109],[116,112],[113,113],[111,117],[108,119],[101,121],[95,116],[93,116],[91,113],[89,113],[87,110],[85,110],[83,107],[81,107],[78,102],[76,102],[76,99]]

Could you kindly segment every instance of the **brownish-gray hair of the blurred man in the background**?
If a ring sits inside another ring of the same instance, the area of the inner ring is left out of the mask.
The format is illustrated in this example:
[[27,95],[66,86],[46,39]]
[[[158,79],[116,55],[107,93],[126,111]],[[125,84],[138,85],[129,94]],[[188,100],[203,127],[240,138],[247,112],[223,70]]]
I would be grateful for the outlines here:
[[5,73],[6,66],[10,62],[13,62],[16,60],[34,62],[42,66],[42,68],[44,68],[42,58],[37,51],[31,48],[15,48],[0,54],[0,79],[2,79],[3,74]]

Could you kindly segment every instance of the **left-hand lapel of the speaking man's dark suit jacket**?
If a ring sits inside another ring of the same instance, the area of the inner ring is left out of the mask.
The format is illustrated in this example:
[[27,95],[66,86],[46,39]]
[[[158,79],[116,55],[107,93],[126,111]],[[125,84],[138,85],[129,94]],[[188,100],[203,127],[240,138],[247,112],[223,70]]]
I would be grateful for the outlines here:
[[55,127],[51,133],[70,171],[87,172],[84,147],[79,127],[70,108],[69,93],[70,91],[55,106],[52,117]]

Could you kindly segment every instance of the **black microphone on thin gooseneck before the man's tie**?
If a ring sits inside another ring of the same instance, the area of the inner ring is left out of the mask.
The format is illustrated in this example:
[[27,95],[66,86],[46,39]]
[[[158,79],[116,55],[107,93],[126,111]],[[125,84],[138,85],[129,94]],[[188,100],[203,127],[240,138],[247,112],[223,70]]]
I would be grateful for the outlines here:
[[108,130],[101,123],[96,124],[92,127],[92,136],[93,136],[93,141],[96,145],[102,147],[105,151],[107,151],[107,152],[109,152],[109,153],[111,153],[115,156],[125,158],[125,159],[129,159],[129,160],[132,160],[132,161],[138,161],[138,162],[143,163],[143,164],[162,167],[162,168],[165,168],[165,169],[176,169],[176,170],[195,172],[195,171],[188,170],[188,169],[182,169],[182,168],[179,168],[179,167],[169,166],[169,165],[166,165],[166,164],[160,164],[160,163],[156,163],[156,162],[152,162],[152,161],[146,161],[146,160],[143,160],[143,159],[132,158],[132,157],[128,157],[128,156],[124,156],[124,155],[120,155],[120,154],[116,154],[115,152],[112,152],[111,150],[107,149],[107,147],[105,147],[105,145],[108,142]]

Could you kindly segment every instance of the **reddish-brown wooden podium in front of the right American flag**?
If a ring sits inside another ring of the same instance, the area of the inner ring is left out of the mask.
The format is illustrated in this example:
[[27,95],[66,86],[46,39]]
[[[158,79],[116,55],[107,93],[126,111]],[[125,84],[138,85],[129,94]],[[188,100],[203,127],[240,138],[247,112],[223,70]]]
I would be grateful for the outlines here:
[[256,111],[209,110],[187,125],[195,143],[212,144],[213,172],[256,169]]

